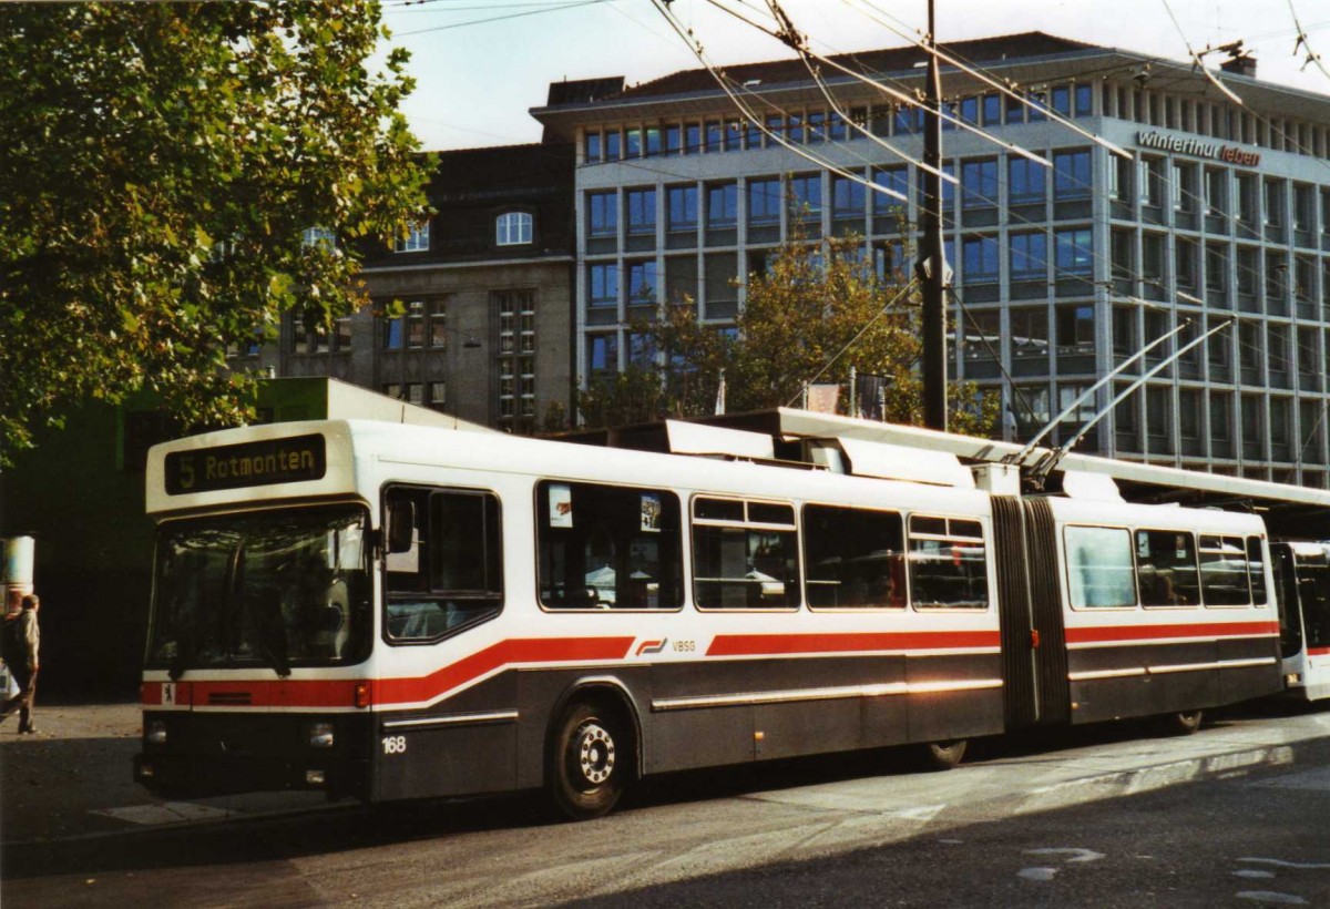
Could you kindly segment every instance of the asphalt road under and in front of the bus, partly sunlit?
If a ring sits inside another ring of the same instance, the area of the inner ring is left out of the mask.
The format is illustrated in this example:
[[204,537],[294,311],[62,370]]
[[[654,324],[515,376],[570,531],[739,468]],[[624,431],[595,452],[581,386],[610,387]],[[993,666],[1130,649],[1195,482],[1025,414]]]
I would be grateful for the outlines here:
[[532,800],[334,807],[7,844],[12,906],[1330,905],[1330,712],[1105,725],[665,777],[589,824]]

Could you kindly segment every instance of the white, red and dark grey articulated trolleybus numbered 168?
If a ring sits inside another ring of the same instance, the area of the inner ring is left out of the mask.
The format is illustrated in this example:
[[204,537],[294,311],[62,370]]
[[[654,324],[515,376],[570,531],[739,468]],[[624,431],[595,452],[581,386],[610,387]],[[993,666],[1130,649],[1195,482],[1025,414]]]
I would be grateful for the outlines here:
[[354,421],[160,445],[136,779],[543,788],[588,818],[648,773],[900,744],[946,767],[1282,685],[1254,515],[1000,495],[900,446],[821,462]]

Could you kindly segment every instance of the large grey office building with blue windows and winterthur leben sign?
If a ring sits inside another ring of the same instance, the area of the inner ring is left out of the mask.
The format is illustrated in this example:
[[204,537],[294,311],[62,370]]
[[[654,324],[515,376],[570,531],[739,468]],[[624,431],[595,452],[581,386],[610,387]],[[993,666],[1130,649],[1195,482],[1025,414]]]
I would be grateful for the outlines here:
[[[999,393],[1003,437],[1020,441],[1164,338],[1052,439],[1169,361],[1077,450],[1325,487],[1330,96],[1220,73],[1240,108],[1190,64],[1039,33],[952,49],[1029,88],[1017,100],[943,71],[951,113],[988,133],[943,133],[955,178],[943,184],[950,375]],[[854,57],[903,91],[922,84],[922,59],[912,48]],[[762,124],[705,71],[533,110],[547,137],[577,146],[583,385],[624,369],[629,322],[668,299],[686,295],[705,322],[732,325],[745,275],[791,232],[853,233],[878,269],[910,266],[900,250],[926,201],[919,112],[849,77],[829,81],[835,109],[798,63],[726,72]]]

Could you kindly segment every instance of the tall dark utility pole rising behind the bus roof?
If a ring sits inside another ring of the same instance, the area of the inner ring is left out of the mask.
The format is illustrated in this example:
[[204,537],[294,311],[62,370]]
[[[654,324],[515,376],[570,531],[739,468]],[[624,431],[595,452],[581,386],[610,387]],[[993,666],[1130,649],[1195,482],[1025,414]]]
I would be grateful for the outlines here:
[[[928,0],[928,47],[938,48],[935,0]],[[928,56],[924,105],[923,161],[934,168],[923,174],[923,237],[916,272],[923,286],[923,418],[931,430],[947,430],[947,270],[942,242],[942,73],[938,55]]]

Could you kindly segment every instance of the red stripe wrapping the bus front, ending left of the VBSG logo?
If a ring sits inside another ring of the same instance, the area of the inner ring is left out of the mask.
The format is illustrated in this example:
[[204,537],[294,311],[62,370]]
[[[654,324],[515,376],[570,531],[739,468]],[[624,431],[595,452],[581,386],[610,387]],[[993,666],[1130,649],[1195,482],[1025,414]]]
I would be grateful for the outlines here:
[[[621,660],[628,656],[633,640],[633,637],[519,637],[503,640],[427,676],[376,679],[370,681],[370,685],[375,704],[434,700],[509,664]],[[194,707],[352,707],[355,688],[363,681],[363,679],[180,681],[176,684],[176,703],[182,707],[190,703]],[[160,681],[144,683],[145,707],[162,705],[162,684]],[[237,699],[247,695],[247,699],[245,703],[227,701],[226,696],[229,695]],[[210,703],[214,699],[215,703]]]

